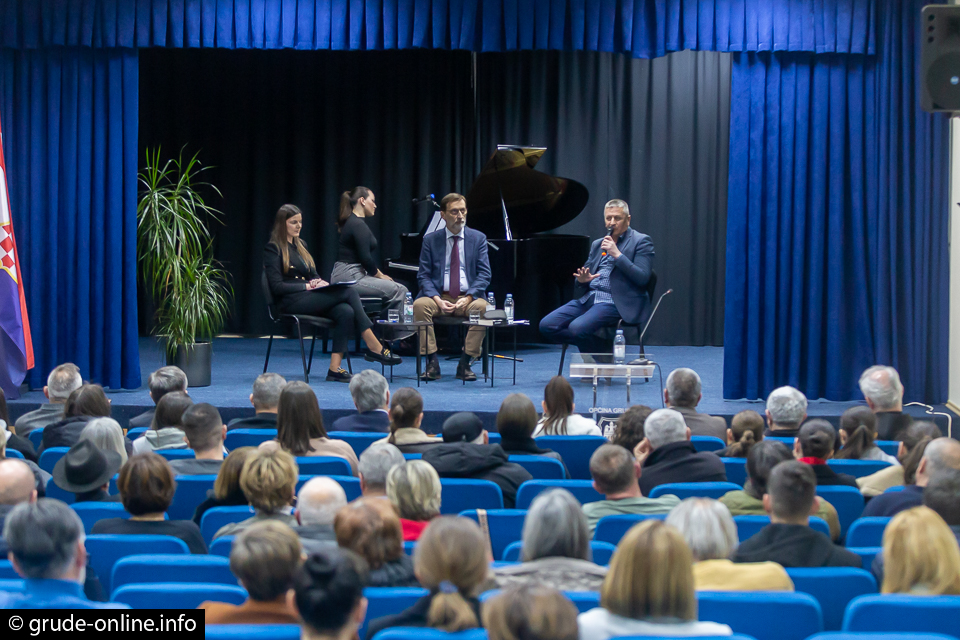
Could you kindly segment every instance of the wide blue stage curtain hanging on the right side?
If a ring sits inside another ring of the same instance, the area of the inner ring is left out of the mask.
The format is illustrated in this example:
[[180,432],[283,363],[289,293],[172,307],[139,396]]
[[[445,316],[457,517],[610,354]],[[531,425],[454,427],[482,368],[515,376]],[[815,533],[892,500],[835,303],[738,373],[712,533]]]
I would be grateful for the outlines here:
[[735,56],[724,397],[851,400],[890,364],[947,391],[948,127],[919,106],[921,0],[882,0],[877,55]]

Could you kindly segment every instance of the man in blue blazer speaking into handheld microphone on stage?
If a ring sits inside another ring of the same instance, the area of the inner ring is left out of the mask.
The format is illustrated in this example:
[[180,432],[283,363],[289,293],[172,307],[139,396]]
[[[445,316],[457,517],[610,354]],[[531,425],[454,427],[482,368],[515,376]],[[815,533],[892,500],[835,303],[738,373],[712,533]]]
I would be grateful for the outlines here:
[[640,324],[650,306],[653,241],[630,228],[630,207],[623,200],[608,202],[603,219],[610,235],[594,241],[587,262],[573,274],[576,297],[540,321],[544,338],[574,344],[581,353],[610,353],[612,345],[596,331],[621,318]]

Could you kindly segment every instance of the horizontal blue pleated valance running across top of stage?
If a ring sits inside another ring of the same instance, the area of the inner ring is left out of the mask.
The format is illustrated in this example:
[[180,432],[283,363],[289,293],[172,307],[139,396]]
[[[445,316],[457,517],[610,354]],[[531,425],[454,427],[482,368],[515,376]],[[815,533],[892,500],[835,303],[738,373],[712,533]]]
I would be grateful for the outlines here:
[[873,53],[877,0],[0,0],[0,47]]

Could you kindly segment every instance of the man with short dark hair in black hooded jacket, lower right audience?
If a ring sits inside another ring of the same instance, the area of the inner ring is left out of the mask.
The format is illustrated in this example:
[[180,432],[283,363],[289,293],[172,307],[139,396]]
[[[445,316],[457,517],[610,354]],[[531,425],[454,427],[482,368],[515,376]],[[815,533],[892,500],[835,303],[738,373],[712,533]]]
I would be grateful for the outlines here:
[[796,460],[773,468],[763,496],[770,524],[740,544],[734,562],[773,561],[783,567],[862,567],[860,556],[810,528],[817,513],[817,478]]

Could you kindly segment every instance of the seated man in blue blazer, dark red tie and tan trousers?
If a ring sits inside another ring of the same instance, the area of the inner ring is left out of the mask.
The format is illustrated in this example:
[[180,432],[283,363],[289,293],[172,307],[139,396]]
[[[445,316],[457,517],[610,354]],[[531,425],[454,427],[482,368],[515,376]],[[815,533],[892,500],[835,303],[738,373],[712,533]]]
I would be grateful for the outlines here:
[[[487,236],[466,226],[467,199],[459,193],[448,193],[443,197],[440,216],[446,228],[424,236],[420,250],[420,270],[417,273],[420,293],[413,303],[413,317],[418,322],[432,322],[436,315],[469,316],[471,310],[482,314],[487,308],[483,298],[490,285]],[[467,331],[463,355],[457,365],[457,378],[477,379],[470,370],[470,363],[480,357],[485,331],[483,327],[470,327]],[[440,361],[432,325],[427,329],[427,343],[423,349],[427,354],[423,377],[437,380]]]

